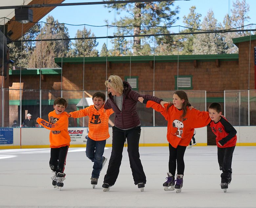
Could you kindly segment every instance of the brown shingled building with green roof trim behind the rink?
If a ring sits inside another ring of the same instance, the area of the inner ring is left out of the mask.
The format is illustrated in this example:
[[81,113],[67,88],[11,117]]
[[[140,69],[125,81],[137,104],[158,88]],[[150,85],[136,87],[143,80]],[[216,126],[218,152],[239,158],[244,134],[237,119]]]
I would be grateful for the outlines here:
[[132,78],[133,88],[148,94],[153,90],[173,91],[179,85],[179,89],[184,90],[206,90],[207,103],[222,103],[224,90],[256,89],[256,35],[233,41],[239,47],[239,54],[55,58],[62,70],[41,69],[41,73],[39,69],[10,70],[6,78],[9,93],[6,91],[4,95],[5,101],[9,100],[4,106],[5,126],[11,125],[14,119],[19,120],[20,73],[22,120],[27,112],[39,116],[40,88],[41,115],[45,117],[52,110],[53,100],[61,96],[61,89],[62,96],[69,100],[67,110],[76,110],[76,104],[83,96],[83,84],[86,92],[105,91],[104,82],[111,74],[123,80]]

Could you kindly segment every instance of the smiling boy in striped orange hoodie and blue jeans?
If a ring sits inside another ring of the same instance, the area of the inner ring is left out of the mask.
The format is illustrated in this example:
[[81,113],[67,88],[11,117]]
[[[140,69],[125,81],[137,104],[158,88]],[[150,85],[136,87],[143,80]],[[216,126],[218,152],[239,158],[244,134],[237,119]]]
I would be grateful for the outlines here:
[[99,173],[107,161],[103,153],[106,140],[110,137],[108,132],[109,116],[114,113],[112,109],[104,110],[105,100],[105,94],[96,92],[93,95],[93,105],[82,110],[70,112],[70,117],[72,118],[89,116],[89,133],[85,152],[86,157],[94,162],[91,177],[93,188],[97,185]]

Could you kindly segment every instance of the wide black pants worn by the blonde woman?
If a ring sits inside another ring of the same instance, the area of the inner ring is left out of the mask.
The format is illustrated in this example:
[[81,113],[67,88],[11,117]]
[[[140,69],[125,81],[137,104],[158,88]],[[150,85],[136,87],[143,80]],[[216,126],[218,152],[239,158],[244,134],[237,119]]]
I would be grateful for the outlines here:
[[108,170],[104,177],[104,183],[108,183],[109,185],[115,184],[119,174],[119,168],[122,161],[123,146],[126,139],[128,144],[127,151],[134,183],[135,185],[141,182],[146,183],[146,176],[139,159],[139,137],[141,131],[140,126],[129,130],[122,130],[113,126],[112,129],[112,152],[108,164]]

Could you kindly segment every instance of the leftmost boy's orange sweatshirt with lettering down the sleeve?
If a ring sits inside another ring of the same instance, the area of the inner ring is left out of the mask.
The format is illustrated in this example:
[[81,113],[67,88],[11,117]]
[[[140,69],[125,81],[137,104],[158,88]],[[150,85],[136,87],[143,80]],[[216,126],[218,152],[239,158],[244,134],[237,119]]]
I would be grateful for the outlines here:
[[50,132],[50,147],[59,148],[64,146],[70,146],[70,136],[68,132],[69,115],[67,112],[63,112],[60,115],[55,113],[55,110],[48,114],[49,121],[45,121],[41,118],[37,120],[37,123]]

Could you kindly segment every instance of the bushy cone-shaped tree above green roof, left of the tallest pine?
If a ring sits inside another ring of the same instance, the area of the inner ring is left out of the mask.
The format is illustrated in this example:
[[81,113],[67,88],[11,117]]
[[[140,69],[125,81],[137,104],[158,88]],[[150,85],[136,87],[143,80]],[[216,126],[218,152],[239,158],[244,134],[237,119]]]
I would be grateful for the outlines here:
[[76,38],[88,38],[91,37],[93,39],[85,39],[85,40],[75,40],[75,42],[71,43],[72,49],[70,50],[68,56],[70,57],[83,57],[83,56],[98,56],[98,50],[96,47],[98,43],[94,33],[91,34],[91,29],[87,30],[84,28],[83,30],[77,30]]

